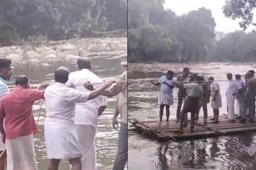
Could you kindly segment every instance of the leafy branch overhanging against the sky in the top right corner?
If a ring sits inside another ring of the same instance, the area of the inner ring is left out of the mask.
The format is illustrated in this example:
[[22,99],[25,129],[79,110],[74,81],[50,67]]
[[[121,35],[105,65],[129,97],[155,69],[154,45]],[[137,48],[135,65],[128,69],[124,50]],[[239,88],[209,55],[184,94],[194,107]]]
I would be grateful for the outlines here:
[[233,20],[242,19],[239,22],[241,28],[248,28],[252,23],[253,9],[256,7],[256,0],[226,0],[222,8],[224,15]]

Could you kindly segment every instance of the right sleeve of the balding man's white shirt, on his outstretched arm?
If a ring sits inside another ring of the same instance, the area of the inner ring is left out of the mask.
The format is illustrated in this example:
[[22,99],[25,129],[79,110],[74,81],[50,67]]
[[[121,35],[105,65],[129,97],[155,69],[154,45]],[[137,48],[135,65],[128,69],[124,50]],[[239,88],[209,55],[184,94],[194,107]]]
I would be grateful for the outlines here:
[[64,94],[64,99],[73,103],[85,103],[88,100],[90,92],[80,92],[69,88]]

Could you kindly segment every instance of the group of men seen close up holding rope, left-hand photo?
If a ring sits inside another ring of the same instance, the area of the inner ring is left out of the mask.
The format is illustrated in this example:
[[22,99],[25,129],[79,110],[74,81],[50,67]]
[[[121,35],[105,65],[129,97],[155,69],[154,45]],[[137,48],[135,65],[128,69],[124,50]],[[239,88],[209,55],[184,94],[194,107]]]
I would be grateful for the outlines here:
[[[78,71],[69,73],[59,67],[53,85],[32,89],[29,78],[18,76],[15,88],[8,89],[12,75],[11,61],[0,59],[0,170],[37,170],[33,134],[38,132],[32,113],[34,101],[45,100],[45,146],[50,159],[48,170],[57,170],[61,159],[68,159],[72,170],[97,170],[95,133],[98,117],[107,106],[106,97],[117,96],[113,117],[121,115],[118,152],[113,170],[123,170],[127,162],[127,60],[121,62],[124,72],[118,81],[102,81],[91,71],[88,58],[78,59]],[[116,82],[116,84],[114,84]],[[112,84],[114,84],[112,86]],[[125,135],[124,135],[125,134]],[[7,156],[6,156],[7,155]]]

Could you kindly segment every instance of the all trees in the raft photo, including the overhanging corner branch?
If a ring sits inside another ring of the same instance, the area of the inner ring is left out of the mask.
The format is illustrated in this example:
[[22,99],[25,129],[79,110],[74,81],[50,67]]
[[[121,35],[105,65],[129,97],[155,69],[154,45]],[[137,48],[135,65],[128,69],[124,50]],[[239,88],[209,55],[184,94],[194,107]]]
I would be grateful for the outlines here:
[[[246,29],[256,4],[252,1],[255,0],[242,0],[239,4],[226,1],[223,13],[232,19],[242,19],[240,27]],[[128,0],[129,62],[255,61],[256,33],[216,32],[210,9],[199,8],[177,16],[171,9],[165,9],[164,3]],[[247,12],[239,12],[245,9]]]

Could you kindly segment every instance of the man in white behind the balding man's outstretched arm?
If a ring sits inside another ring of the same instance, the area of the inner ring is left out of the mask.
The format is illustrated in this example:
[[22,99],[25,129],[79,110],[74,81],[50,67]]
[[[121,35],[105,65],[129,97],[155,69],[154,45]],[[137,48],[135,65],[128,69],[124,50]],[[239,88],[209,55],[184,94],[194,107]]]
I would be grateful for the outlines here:
[[[67,86],[81,84],[83,82],[102,83],[103,81],[96,74],[91,72],[89,58],[80,58],[77,61],[79,71],[72,72],[68,76]],[[99,88],[100,84],[94,85]],[[80,92],[90,92],[84,86],[75,86],[74,89]],[[78,134],[78,142],[82,146],[82,170],[97,170],[96,151],[94,137],[98,125],[98,117],[107,106],[105,96],[98,96],[86,103],[77,103],[75,110],[75,129]]]

